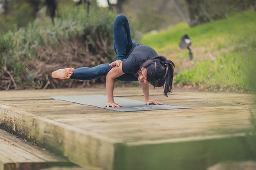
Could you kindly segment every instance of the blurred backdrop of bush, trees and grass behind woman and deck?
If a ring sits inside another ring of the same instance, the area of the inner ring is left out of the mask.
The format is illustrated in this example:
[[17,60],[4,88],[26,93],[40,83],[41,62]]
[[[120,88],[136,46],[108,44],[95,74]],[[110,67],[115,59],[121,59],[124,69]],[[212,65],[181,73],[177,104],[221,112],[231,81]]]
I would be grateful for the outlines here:
[[[112,26],[119,14],[128,17],[134,42],[175,63],[177,87],[256,89],[256,0],[0,0],[0,89],[104,85],[104,78],[50,75],[114,61]],[[179,47],[184,34],[193,59]]]

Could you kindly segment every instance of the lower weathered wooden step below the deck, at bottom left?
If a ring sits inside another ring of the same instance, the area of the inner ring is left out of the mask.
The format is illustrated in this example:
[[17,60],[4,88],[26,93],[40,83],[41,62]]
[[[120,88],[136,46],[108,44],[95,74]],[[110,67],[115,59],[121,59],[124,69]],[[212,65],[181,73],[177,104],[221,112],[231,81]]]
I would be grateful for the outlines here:
[[55,156],[0,129],[0,170],[19,170],[24,167],[32,170],[61,164],[73,165],[63,157]]

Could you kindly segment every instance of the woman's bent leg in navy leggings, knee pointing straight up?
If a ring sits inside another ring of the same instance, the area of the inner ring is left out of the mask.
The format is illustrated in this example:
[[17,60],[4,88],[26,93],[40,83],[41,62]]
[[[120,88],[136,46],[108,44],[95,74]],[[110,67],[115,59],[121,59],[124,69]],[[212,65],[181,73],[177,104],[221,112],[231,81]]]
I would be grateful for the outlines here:
[[114,50],[118,60],[126,58],[126,54],[132,48],[133,42],[130,33],[128,19],[124,15],[118,15],[113,25]]

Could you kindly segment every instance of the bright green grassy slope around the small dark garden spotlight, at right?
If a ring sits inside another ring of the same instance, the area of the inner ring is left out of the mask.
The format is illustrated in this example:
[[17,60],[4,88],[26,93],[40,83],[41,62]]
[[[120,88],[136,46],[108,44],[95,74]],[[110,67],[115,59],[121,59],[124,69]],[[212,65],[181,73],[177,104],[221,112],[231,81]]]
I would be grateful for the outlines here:
[[[178,43],[187,33],[192,40],[193,61]],[[250,91],[247,74],[256,58],[256,13],[232,16],[189,28],[185,23],[157,34],[147,34],[142,43],[176,64],[174,83],[200,89]]]

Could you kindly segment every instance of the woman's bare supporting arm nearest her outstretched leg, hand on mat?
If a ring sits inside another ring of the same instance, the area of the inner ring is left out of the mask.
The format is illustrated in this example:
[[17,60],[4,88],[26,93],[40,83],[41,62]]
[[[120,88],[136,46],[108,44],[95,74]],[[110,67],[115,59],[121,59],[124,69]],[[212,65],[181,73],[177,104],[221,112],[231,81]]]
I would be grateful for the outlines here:
[[122,76],[124,72],[122,72],[122,63],[119,64],[117,67],[113,67],[106,76],[106,88],[107,88],[107,96],[108,96],[108,103],[104,105],[104,107],[122,107],[121,104],[114,102],[114,85],[115,85],[115,78]]

